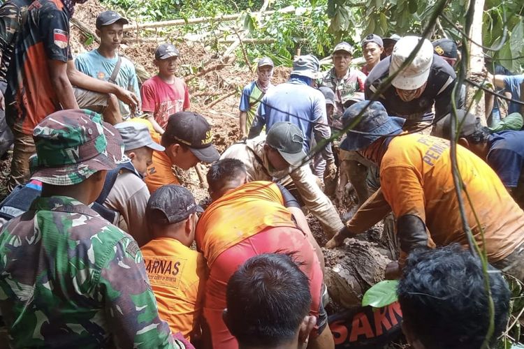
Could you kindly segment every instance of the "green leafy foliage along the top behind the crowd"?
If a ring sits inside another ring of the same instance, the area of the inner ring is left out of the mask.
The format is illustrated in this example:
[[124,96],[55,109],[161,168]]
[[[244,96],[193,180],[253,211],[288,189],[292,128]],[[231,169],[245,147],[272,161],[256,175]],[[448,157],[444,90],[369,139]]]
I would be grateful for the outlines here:
[[[1,0],[0,0],[1,1]],[[300,47],[303,53],[326,57],[330,47],[340,40],[356,44],[365,34],[420,34],[435,7],[435,0],[272,0],[268,9],[278,10],[293,6],[295,13],[275,13],[261,23],[252,15],[263,0],[102,0],[137,22],[172,20],[242,13],[240,27],[249,30],[250,38],[271,38],[270,45],[245,44],[249,60],[269,55],[279,65],[290,65]],[[450,0],[440,17],[446,35],[458,40],[465,24],[467,0]],[[449,20],[446,20],[446,18]],[[483,45],[496,47],[507,29],[507,40],[500,50],[486,50],[509,70],[518,72],[524,66],[524,1],[486,0],[483,15]],[[450,23],[451,22],[451,23]],[[208,22],[168,29],[181,37],[213,29],[224,29],[224,23]],[[231,22],[228,23],[231,26]],[[234,32],[228,33],[230,35]],[[442,36],[437,28],[433,38]],[[211,40],[212,41],[212,40]],[[219,52],[219,45],[210,45]],[[241,60],[239,60],[241,61]]]

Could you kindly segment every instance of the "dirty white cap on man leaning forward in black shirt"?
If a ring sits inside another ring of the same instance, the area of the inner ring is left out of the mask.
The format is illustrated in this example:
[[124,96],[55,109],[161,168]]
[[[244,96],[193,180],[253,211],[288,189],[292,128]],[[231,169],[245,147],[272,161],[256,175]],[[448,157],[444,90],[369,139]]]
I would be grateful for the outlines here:
[[393,47],[389,75],[393,75],[412,54],[419,40],[424,40],[413,61],[400,71],[391,84],[398,89],[413,90],[421,87],[428,80],[433,63],[433,45],[419,36],[405,36]]

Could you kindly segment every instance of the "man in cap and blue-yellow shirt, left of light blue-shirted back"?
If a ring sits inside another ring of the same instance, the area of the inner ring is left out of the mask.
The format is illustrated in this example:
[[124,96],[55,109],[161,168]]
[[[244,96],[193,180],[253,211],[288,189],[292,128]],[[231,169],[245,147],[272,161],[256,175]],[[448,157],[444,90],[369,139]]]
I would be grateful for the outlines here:
[[271,84],[271,77],[273,75],[273,61],[269,57],[260,59],[256,66],[257,79],[249,82],[242,90],[240,96],[240,140],[247,137],[249,128],[253,124],[256,110],[259,109],[260,101],[265,93],[273,85]]

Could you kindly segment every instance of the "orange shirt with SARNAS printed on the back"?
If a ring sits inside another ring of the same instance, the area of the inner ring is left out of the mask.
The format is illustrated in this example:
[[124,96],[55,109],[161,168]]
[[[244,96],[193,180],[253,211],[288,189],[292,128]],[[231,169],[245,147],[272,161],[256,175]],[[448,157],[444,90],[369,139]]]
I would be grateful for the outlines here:
[[205,260],[177,239],[157,237],[141,248],[159,315],[189,340],[202,316]]

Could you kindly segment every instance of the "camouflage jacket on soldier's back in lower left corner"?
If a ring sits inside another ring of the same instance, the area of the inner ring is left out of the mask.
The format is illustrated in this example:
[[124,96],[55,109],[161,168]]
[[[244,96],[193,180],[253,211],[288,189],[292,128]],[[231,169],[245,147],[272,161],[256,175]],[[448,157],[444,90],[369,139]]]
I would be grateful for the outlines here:
[[13,348],[181,348],[133,238],[64,196],[1,232],[0,310]]

